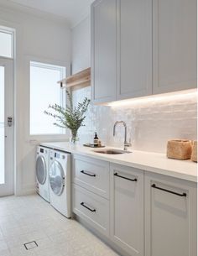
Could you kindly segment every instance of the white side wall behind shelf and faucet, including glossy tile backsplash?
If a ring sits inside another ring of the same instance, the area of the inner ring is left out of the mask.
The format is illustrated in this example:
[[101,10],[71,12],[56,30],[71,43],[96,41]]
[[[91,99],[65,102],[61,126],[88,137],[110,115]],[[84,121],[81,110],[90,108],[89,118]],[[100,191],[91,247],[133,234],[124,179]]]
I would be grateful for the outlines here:
[[[74,73],[90,66],[90,19],[86,18],[72,30],[72,64]],[[74,101],[91,97],[91,88],[73,92]],[[86,127],[80,128],[82,143],[91,142],[94,132],[104,144],[122,146],[123,128],[117,127],[112,136],[112,127],[117,120],[128,125],[128,138],[133,149],[165,152],[171,138],[196,139],[196,94],[175,97],[143,98],[126,107],[92,106],[86,117]]]

